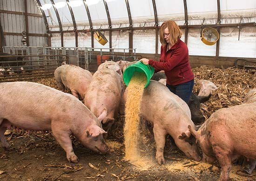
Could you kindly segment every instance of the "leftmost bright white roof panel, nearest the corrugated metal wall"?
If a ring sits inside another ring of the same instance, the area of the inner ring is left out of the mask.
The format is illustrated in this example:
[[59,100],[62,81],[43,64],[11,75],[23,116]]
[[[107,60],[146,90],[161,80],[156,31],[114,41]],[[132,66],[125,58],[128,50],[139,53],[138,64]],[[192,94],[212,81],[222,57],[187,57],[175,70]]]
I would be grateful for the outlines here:
[[40,0],[41,9],[44,11],[48,25],[51,26],[58,26],[58,19],[56,13],[54,11],[54,7],[50,0]]

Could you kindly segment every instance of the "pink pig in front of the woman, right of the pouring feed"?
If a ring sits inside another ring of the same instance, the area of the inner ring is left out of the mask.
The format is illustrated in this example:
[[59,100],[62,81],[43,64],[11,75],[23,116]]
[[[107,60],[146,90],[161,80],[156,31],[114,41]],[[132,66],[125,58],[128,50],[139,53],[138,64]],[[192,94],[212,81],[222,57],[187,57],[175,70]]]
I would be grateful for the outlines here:
[[[126,96],[127,89],[124,94],[124,100],[127,99]],[[184,133],[190,137],[188,125],[195,128],[194,123],[191,121],[189,106],[162,83],[151,80],[148,87],[144,89],[141,100],[141,116],[154,125],[155,158],[159,165],[165,162],[163,149],[167,134],[174,139],[177,147],[186,156],[196,161],[201,159],[192,136],[189,141],[179,139],[179,137],[185,136]]]

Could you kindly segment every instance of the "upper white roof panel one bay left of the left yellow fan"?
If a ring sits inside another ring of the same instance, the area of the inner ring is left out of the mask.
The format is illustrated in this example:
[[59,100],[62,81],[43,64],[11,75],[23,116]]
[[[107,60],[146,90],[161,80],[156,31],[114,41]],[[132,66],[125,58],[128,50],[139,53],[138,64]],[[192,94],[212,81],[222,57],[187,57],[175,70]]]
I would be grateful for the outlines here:
[[81,24],[89,24],[88,15],[83,0],[69,0],[69,6],[72,8],[77,26]]

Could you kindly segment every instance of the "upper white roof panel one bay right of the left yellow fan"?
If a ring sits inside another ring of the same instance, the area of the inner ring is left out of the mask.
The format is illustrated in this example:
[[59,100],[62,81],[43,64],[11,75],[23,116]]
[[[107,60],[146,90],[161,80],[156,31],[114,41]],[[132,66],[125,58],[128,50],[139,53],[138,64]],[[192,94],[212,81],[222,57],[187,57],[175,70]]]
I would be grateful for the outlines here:
[[106,2],[108,4],[111,24],[123,24],[129,22],[125,0],[106,0]]

